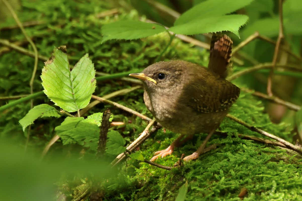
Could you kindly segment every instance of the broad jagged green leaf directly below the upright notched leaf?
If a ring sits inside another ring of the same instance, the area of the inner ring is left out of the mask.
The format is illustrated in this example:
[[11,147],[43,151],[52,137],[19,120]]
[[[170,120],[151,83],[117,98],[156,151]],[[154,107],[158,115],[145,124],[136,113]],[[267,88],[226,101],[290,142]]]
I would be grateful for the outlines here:
[[78,143],[96,151],[100,129],[93,119],[83,117],[67,117],[63,123],[55,128],[63,145]]

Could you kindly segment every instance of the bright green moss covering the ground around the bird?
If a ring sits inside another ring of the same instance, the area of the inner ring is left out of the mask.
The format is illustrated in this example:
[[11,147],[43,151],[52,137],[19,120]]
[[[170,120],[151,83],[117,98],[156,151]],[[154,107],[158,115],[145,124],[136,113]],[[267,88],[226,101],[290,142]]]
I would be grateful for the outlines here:
[[[116,16],[102,19],[95,14],[110,9],[105,1],[70,3],[69,1],[21,1],[18,16],[21,21],[36,19],[43,23],[27,27],[33,37],[39,54],[49,56],[53,47],[66,45],[70,62],[74,64],[85,53],[89,53],[95,69],[101,72],[116,73],[131,69],[144,68],[152,64],[161,50],[168,43],[166,34],[133,41],[108,41],[101,44],[101,25],[118,19],[138,19],[136,11],[126,14],[120,10]],[[47,9],[46,9],[47,8]],[[8,19],[1,27],[14,24]],[[1,38],[10,41],[24,40],[18,29],[1,31]],[[25,48],[31,49],[29,45]],[[189,44],[174,39],[161,60],[179,58],[202,65],[207,65],[208,52],[199,50]],[[74,63],[72,63],[74,62]],[[30,91],[29,83],[34,59],[21,53],[10,51],[0,55],[2,76],[2,96],[26,94]],[[39,61],[34,84],[34,91],[42,90],[40,72],[43,62]],[[97,83],[95,94],[103,96],[116,90],[130,87],[133,84],[121,80],[110,80]],[[242,83],[236,83],[244,86]],[[143,90],[137,90],[120,96],[113,101],[151,117],[143,103]],[[34,100],[34,104],[49,103],[46,97]],[[4,102],[2,102],[4,104]],[[92,112],[104,111],[109,105],[99,104]],[[27,113],[30,103],[17,105],[5,111],[0,118],[1,137],[8,137],[24,145],[26,137],[18,121]],[[123,134],[127,143],[138,137],[146,122],[135,118],[124,111],[111,107],[115,121],[124,121],[126,125],[117,130]],[[272,124],[265,114],[262,102],[248,93],[241,93],[230,113],[256,127],[262,128],[279,137],[291,141],[289,125]],[[42,149],[53,137],[54,127],[61,121],[38,119],[33,125],[29,147]],[[113,180],[97,182],[95,190],[103,200],[174,200],[179,188],[188,181],[189,190],[186,200],[240,200],[238,194],[247,189],[244,200],[302,200],[302,170],[300,156],[275,146],[268,146],[252,140],[243,140],[237,134],[262,137],[245,127],[225,119],[220,126],[227,136],[214,135],[208,145],[216,143],[217,149],[201,155],[197,160],[185,163],[171,171],[150,166],[143,162],[127,159],[117,168],[119,174]],[[196,134],[193,140],[175,149],[172,155],[156,162],[173,166],[184,153],[189,155],[201,144],[206,134]],[[235,137],[232,137],[235,136]],[[140,146],[145,159],[150,159],[159,149],[165,149],[178,137],[169,130],[158,130]],[[69,149],[60,142],[52,150]],[[52,152],[50,150],[50,152]],[[69,149],[70,150],[70,149]],[[59,189],[67,199],[75,198],[85,189],[87,181],[81,177],[58,182]],[[90,192],[93,193],[93,190]],[[89,200],[90,193],[84,199]]]

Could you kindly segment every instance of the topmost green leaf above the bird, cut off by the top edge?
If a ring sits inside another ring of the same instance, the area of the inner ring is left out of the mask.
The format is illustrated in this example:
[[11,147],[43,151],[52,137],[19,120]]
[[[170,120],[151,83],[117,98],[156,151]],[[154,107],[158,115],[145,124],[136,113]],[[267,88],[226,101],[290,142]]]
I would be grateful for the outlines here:
[[[183,13],[175,22],[174,26],[190,24],[195,20],[205,20],[211,17],[218,17],[229,14],[233,11],[249,5],[253,0],[208,0],[189,9]],[[222,20],[224,21],[224,20]],[[217,26],[218,27],[218,26]],[[209,31],[210,32],[210,31]],[[205,33],[205,32],[203,32]]]

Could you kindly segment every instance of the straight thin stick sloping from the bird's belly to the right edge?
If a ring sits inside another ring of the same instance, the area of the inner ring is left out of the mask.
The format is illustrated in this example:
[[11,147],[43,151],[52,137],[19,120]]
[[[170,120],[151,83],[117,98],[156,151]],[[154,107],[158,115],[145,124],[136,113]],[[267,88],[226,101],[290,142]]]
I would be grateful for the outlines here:
[[289,148],[291,148],[291,149],[293,149],[293,150],[295,150],[295,151],[297,151],[299,153],[302,153],[302,149],[300,149],[300,147],[295,146],[292,143],[290,143],[290,142],[288,142],[286,140],[283,140],[280,137],[277,137],[277,136],[275,136],[275,135],[273,135],[271,133],[268,133],[268,132],[266,132],[264,130],[261,130],[259,128],[256,128],[256,127],[252,126],[252,125],[249,125],[246,122],[241,121],[240,119],[234,117],[233,115],[227,114],[226,117],[232,119],[233,121],[236,121],[237,123],[239,123],[239,124],[243,125],[244,127],[248,128],[249,130],[252,130],[254,132],[257,132],[257,133],[260,133],[262,135],[265,135],[266,137],[269,137],[271,139],[277,140],[278,142],[283,143],[285,146],[287,146],[287,147],[289,147]]

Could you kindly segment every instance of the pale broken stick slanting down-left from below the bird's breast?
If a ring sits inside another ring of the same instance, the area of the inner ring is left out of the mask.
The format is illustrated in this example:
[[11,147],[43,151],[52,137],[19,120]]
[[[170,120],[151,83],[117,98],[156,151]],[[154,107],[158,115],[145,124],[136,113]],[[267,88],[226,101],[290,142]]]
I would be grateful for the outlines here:
[[[140,136],[133,141],[130,145],[127,146],[127,150],[132,151],[133,149],[137,148],[141,143],[143,143],[151,134],[153,134],[157,129],[159,129],[161,126],[159,124],[155,124],[153,128],[149,131],[149,128],[156,123],[155,120],[152,120],[149,122],[147,127],[144,129],[142,133],[140,133]],[[121,153],[111,162],[111,165],[117,165],[121,160],[123,160],[126,157],[125,153]]]

